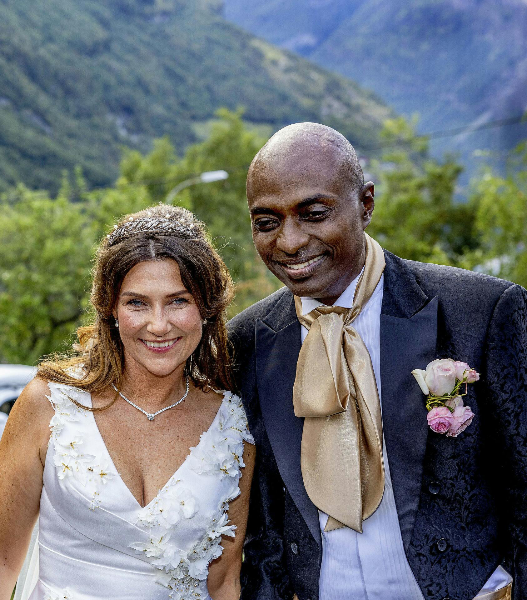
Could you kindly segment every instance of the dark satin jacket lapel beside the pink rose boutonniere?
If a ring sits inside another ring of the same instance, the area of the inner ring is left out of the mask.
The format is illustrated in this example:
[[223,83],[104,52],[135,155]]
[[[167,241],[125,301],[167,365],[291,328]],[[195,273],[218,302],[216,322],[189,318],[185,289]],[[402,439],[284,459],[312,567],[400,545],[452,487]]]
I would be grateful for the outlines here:
[[428,434],[425,397],[411,371],[436,358],[437,297],[424,295],[403,260],[387,253],[381,310],[383,431],[403,545],[421,493]]

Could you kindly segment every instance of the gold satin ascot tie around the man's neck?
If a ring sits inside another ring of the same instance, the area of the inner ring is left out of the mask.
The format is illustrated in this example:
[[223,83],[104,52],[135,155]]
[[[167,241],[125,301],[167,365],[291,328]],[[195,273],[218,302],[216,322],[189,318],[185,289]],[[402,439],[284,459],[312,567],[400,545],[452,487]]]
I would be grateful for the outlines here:
[[353,306],[296,314],[308,331],[296,368],[294,413],[304,417],[300,466],[309,498],[329,515],[325,531],[362,533],[384,494],[383,422],[372,361],[351,326],[379,283],[384,252],[369,235]]

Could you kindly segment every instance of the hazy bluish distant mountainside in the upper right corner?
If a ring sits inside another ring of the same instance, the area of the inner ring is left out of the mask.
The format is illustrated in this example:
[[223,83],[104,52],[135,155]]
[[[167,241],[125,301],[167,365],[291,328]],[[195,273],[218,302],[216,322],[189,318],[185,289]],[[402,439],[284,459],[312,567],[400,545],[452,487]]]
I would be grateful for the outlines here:
[[[436,132],[527,110],[525,0],[224,0],[227,19],[372,89]],[[527,123],[435,142],[495,158]]]

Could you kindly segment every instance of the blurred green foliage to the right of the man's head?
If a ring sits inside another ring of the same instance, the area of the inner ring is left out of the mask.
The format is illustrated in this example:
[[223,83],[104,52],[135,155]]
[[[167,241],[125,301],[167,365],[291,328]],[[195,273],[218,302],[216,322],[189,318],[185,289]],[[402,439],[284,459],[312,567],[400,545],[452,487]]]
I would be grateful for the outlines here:
[[430,158],[414,123],[389,119],[386,149],[369,169],[378,182],[368,232],[397,256],[486,272],[527,286],[527,143],[508,161],[507,176],[490,167],[459,197],[462,167]]

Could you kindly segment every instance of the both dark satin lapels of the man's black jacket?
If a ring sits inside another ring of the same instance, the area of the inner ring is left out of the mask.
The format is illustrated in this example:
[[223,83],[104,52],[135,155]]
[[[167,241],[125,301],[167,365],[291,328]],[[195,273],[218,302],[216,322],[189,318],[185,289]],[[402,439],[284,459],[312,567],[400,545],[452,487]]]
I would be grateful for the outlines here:
[[[437,298],[430,299],[406,263],[385,251],[380,322],[383,430],[405,550],[421,492],[428,425],[424,395],[411,371],[436,358]],[[257,387],[267,436],[294,503],[321,546],[317,507],[300,469],[303,419],[294,415],[293,384],[300,352],[300,323],[286,291],[256,323]]]

